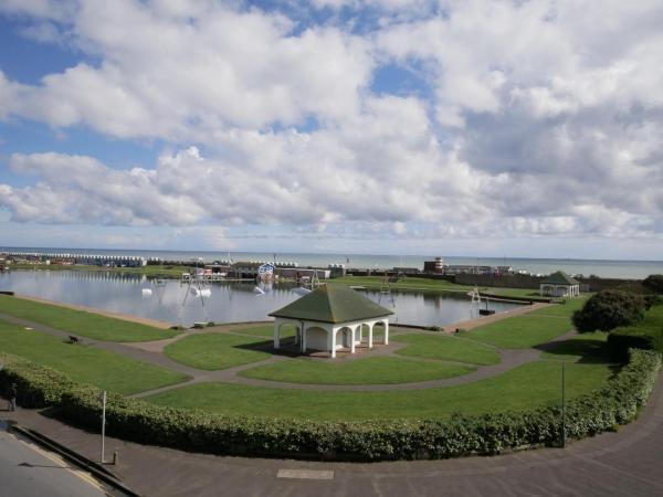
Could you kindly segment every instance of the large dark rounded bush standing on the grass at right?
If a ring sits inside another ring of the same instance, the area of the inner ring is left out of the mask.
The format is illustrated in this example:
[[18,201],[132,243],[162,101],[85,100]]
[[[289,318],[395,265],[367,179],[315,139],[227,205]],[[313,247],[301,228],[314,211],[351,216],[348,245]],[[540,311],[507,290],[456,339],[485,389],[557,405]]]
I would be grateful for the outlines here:
[[644,317],[644,299],[614,289],[593,295],[582,309],[573,313],[573,325],[580,332],[609,331],[618,326],[639,322]]

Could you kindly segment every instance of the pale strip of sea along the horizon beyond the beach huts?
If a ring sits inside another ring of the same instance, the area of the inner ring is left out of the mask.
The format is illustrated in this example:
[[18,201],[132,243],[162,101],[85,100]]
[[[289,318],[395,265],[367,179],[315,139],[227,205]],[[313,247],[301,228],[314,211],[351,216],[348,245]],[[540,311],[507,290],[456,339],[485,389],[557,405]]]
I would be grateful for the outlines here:
[[273,252],[208,252],[208,251],[152,251],[152,250],[108,250],[67,247],[0,247],[0,252],[66,253],[125,255],[159,257],[164,261],[264,261],[297,263],[301,267],[327,267],[329,264],[345,264],[357,269],[391,269],[393,267],[423,268],[424,261],[443,257],[452,265],[512,266],[535,275],[548,275],[565,271],[571,275],[599,276],[603,278],[645,278],[650,274],[663,274],[663,261],[611,261],[576,258],[524,258],[524,257],[469,257],[457,255],[386,255],[386,254],[334,254],[334,253],[273,253]]

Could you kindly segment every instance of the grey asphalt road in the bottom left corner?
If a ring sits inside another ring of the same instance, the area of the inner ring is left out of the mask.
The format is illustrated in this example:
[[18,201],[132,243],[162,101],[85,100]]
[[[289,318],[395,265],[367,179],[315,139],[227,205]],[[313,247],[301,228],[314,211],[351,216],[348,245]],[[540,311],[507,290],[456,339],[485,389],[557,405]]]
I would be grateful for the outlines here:
[[1,497],[104,497],[108,494],[86,473],[56,455],[0,431]]

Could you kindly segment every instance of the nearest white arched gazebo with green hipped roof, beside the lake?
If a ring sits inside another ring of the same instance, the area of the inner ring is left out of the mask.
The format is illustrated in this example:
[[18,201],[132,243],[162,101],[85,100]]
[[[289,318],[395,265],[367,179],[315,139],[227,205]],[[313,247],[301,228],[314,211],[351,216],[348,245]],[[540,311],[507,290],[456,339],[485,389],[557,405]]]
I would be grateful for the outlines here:
[[368,328],[368,348],[373,347],[373,327],[385,325],[383,343],[389,343],[389,316],[393,313],[346,285],[327,284],[270,314],[274,317],[274,348],[281,347],[281,328],[297,327],[295,345],[328,351],[336,358],[338,349],[355,353],[361,343],[364,326]]

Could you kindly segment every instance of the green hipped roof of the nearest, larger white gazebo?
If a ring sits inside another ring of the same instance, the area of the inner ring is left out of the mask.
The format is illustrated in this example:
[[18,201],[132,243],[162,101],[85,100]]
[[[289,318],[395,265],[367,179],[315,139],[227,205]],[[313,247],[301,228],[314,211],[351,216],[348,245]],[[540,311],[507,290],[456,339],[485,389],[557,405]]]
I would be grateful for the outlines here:
[[318,322],[350,322],[386,317],[391,310],[346,285],[327,284],[270,314],[273,317]]

